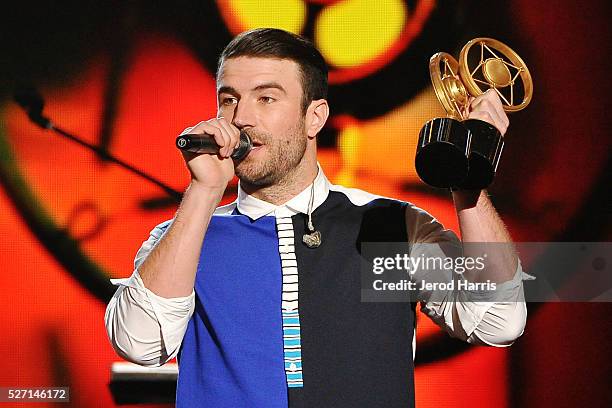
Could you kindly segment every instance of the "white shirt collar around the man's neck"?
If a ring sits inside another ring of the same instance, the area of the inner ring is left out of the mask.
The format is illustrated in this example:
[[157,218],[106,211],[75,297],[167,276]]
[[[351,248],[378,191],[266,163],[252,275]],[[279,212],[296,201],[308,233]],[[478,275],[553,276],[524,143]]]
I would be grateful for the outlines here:
[[318,165],[317,177],[312,184],[306,187],[301,193],[287,201],[285,204],[274,205],[267,201],[260,200],[244,192],[238,183],[238,198],[236,200],[238,211],[256,220],[265,215],[275,215],[277,217],[291,217],[297,213],[308,214],[308,204],[310,202],[310,189],[314,184],[314,200],[312,211],[317,209],[327,199],[329,195],[329,180],[325,177],[323,169]]

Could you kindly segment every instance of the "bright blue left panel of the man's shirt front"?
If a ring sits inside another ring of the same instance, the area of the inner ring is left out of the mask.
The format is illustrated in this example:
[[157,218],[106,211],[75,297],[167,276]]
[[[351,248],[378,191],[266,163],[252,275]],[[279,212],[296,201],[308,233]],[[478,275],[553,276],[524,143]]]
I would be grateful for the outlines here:
[[213,216],[179,354],[177,407],[287,407],[275,217]]

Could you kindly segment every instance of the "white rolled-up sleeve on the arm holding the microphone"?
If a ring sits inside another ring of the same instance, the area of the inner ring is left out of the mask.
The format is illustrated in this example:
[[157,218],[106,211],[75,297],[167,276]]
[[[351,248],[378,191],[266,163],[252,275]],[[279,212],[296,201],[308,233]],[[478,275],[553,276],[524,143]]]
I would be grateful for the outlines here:
[[127,279],[111,279],[117,291],[104,316],[109,340],[126,360],[145,366],[160,366],[180,349],[195,307],[195,293],[178,298],[157,296],[144,286],[138,268],[157,245],[169,222],[155,227],[134,260]]

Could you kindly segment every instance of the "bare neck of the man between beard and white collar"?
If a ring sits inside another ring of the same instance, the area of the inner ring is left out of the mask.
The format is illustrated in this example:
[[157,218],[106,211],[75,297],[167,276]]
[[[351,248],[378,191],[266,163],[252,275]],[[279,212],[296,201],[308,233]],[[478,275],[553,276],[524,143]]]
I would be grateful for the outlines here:
[[312,184],[317,177],[317,172],[316,155],[314,157],[304,155],[300,164],[276,183],[269,186],[256,186],[241,181],[240,187],[244,192],[259,200],[282,205]]

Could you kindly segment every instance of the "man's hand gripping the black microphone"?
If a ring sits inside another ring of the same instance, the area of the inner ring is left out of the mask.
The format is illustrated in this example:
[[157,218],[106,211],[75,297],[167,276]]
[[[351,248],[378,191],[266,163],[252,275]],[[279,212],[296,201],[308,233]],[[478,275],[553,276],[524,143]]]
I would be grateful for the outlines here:
[[223,193],[234,177],[234,162],[230,155],[240,142],[240,130],[219,117],[188,127],[181,134],[208,134],[221,147],[219,154],[198,154],[181,151],[191,173],[191,183]]

